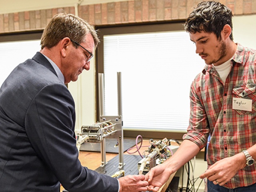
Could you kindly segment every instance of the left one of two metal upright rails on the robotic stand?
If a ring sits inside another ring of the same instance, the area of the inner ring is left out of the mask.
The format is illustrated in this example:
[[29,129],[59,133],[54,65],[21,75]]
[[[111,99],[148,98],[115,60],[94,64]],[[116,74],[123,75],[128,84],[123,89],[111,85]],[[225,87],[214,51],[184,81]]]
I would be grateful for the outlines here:
[[[104,74],[99,73],[99,115],[104,115]],[[101,151],[101,167],[107,164],[106,161],[106,138],[102,138],[100,142],[100,151]]]

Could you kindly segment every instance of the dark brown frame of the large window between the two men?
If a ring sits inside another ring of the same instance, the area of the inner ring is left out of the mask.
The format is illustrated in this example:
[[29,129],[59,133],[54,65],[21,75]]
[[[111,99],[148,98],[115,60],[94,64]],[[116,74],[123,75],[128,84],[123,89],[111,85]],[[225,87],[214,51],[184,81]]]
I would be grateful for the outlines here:
[[[112,26],[95,26],[100,38],[100,44],[96,49],[96,120],[99,121],[99,93],[98,93],[98,74],[104,73],[104,35],[115,34],[132,34],[132,33],[145,33],[145,32],[168,32],[184,30],[185,20],[175,20],[172,22],[152,22],[145,24],[120,24]],[[185,30],[184,30],[185,31]],[[141,135],[143,138],[172,138],[182,140],[184,130],[124,130],[124,137],[134,138]]]

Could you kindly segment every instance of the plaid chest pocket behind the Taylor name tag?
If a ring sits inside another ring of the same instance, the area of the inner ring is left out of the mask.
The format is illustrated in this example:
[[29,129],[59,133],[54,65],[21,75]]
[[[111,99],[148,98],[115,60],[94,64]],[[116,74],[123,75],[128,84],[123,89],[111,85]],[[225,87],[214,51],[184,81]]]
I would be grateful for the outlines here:
[[256,112],[256,85],[248,84],[245,87],[233,88],[233,98],[252,100],[252,111],[235,110],[239,115],[253,114]]

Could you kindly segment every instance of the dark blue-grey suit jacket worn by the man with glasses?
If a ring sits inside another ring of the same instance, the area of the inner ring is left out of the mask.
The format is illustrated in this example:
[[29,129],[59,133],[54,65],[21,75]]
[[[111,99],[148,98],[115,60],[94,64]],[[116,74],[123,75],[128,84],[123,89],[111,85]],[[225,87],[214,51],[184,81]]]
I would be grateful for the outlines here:
[[37,52],[0,88],[0,190],[117,192],[116,178],[81,166],[75,104],[48,60]]

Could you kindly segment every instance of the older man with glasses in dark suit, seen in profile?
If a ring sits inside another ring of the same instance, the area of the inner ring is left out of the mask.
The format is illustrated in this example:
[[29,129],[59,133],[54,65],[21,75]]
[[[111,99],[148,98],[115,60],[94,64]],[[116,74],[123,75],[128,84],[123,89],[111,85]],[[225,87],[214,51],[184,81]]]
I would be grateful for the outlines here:
[[90,69],[99,40],[72,14],[57,14],[41,50],[18,65],[0,89],[0,189],[4,192],[146,191],[144,175],[111,178],[78,160],[74,100],[65,86]]

